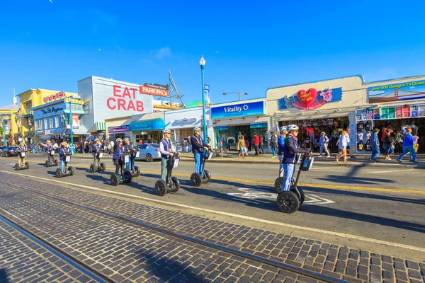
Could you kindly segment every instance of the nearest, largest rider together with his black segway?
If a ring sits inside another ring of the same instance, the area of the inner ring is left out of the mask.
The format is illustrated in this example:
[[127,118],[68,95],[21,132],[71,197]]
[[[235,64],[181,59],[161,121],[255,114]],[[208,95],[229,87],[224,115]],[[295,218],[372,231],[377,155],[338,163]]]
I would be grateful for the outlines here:
[[[286,127],[288,135],[285,137],[285,146],[283,148],[283,170],[284,180],[282,191],[279,193],[276,200],[279,209],[285,213],[293,213],[298,210],[300,204],[304,202],[304,192],[301,188],[297,187],[298,179],[300,178],[301,171],[310,170],[313,159],[310,156],[310,149],[300,149],[297,144],[298,126],[289,125]],[[300,171],[298,172],[295,183],[293,182],[293,175],[295,173],[295,164],[298,161],[299,154],[304,154]]]

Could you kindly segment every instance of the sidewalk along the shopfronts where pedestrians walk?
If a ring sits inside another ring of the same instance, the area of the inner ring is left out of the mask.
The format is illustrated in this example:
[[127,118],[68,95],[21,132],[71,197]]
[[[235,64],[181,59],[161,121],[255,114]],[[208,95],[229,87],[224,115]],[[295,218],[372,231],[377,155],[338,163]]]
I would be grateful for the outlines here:
[[[42,155],[42,153],[38,154]],[[359,167],[373,167],[373,168],[425,168],[425,154],[417,154],[418,163],[409,162],[409,157],[404,156],[403,163],[397,162],[397,155],[392,156],[391,161],[386,161],[382,155],[378,157],[378,163],[372,163],[369,158],[369,154],[356,154],[356,158],[348,158],[348,163],[344,164],[342,159],[339,163],[335,161],[335,154],[332,158],[319,157],[319,154],[313,153],[315,165],[326,165],[326,166],[359,166]],[[75,158],[93,158],[91,154],[77,154]],[[112,156],[104,155],[103,158],[112,158]],[[181,161],[194,162],[193,154],[188,152],[181,152]],[[236,151],[229,153],[223,153],[221,156],[214,156],[210,161],[213,163],[254,163],[254,164],[278,164],[278,158],[272,158],[271,154],[261,154],[255,156],[249,154],[246,158],[239,158]]]

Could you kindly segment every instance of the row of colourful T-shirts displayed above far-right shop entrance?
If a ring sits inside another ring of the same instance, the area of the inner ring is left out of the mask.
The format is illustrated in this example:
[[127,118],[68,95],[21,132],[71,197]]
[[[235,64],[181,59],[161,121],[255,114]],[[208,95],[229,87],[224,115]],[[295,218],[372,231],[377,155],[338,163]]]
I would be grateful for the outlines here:
[[356,110],[356,120],[391,120],[425,117],[425,105],[372,108]]

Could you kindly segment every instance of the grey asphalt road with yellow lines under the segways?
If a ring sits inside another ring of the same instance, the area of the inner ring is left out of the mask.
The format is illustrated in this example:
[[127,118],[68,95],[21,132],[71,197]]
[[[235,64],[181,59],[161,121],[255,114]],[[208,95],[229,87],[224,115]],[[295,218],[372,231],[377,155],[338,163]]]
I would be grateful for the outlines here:
[[101,188],[107,192],[96,193],[120,192],[127,195],[119,197],[143,197],[135,201],[158,207],[425,260],[425,187],[420,167],[316,164],[300,175],[305,204],[294,214],[283,214],[276,206],[273,183],[278,164],[274,163],[209,162],[205,169],[212,174],[211,182],[193,187],[189,178],[194,163],[181,162],[174,169],[181,190],[159,197],[153,187],[159,179],[160,161],[137,162],[142,175],[129,185],[113,187],[109,179],[115,168],[109,158],[103,160],[105,173],[90,173],[91,160],[75,156],[70,163],[77,168],[75,175],[62,179],[55,177],[55,167],[45,168],[45,156],[30,154],[30,169],[18,172],[13,168],[16,159],[0,158],[0,171],[35,176],[47,183],[60,180],[67,187],[80,185],[79,190]]

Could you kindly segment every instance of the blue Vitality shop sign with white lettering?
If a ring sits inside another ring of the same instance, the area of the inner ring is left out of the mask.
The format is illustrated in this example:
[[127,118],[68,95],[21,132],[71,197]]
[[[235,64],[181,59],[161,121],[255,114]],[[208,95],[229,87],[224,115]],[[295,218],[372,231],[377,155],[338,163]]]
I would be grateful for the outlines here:
[[211,119],[246,117],[266,114],[266,102],[257,101],[211,108]]

